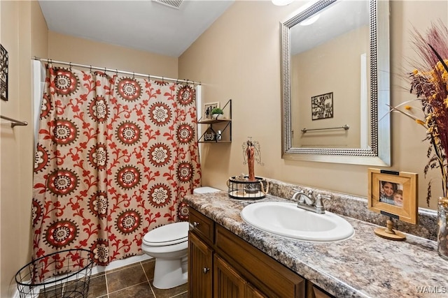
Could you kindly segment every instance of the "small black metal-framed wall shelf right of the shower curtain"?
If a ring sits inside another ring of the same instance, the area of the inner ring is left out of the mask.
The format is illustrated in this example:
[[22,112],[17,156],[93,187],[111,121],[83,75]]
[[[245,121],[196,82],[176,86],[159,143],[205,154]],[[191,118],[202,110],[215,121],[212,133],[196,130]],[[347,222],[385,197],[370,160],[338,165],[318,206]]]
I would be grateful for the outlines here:
[[202,117],[198,124],[207,125],[198,142],[200,143],[230,143],[232,142],[232,100],[229,99],[223,107],[224,115],[209,119]]

